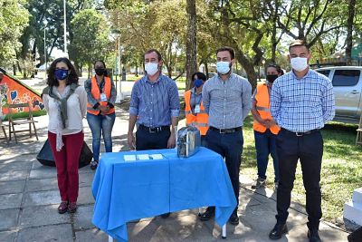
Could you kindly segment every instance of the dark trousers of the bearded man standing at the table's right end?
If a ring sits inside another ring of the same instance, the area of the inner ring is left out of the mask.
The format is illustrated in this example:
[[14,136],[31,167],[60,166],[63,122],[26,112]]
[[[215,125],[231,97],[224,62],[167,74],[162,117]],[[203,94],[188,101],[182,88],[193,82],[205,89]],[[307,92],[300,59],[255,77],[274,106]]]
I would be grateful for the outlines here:
[[206,133],[206,147],[219,153],[226,163],[227,171],[233,185],[237,206],[239,206],[239,171],[242,163],[243,153],[243,131],[233,133],[219,133],[219,131],[208,130]]

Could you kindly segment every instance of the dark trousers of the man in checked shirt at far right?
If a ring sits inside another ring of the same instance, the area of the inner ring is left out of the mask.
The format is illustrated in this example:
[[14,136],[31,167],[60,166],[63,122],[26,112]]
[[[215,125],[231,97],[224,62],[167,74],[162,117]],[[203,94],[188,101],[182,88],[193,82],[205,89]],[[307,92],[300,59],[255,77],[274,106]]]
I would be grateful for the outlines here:
[[322,217],[320,194],[320,167],[323,156],[323,139],[320,131],[298,137],[291,131],[281,129],[277,137],[279,158],[279,188],[277,192],[278,223],[285,223],[291,206],[291,190],[295,179],[297,162],[300,160],[303,184],[306,190],[307,226],[319,228]]

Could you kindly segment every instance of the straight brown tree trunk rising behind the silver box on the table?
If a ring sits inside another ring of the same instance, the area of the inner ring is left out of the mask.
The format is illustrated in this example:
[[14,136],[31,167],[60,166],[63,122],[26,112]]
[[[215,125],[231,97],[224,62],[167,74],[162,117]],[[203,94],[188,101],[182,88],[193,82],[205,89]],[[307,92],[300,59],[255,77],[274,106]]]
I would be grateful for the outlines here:
[[191,75],[197,70],[196,61],[196,4],[195,0],[186,0],[187,37],[186,37],[186,91],[191,88]]

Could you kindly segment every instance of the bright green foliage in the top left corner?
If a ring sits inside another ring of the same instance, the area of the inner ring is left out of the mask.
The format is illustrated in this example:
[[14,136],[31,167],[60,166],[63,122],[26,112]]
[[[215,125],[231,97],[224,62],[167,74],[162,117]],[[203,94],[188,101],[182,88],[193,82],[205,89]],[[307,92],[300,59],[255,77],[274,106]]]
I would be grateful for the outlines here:
[[0,0],[0,64],[13,63],[29,13],[24,0]]

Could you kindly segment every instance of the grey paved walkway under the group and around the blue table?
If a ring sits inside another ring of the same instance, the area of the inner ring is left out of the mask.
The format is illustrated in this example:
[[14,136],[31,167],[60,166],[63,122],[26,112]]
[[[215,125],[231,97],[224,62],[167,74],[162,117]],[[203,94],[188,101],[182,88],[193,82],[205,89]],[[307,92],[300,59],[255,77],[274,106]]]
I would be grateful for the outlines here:
[[[126,109],[127,105],[117,108],[112,133],[114,151],[128,149]],[[0,241],[108,241],[107,235],[90,222],[94,171],[89,167],[80,169],[78,211],[58,214],[60,196],[55,168],[44,167],[35,160],[46,140],[47,116],[35,119],[39,121],[39,141],[23,136],[18,144],[12,140],[6,145],[5,140],[0,140]],[[90,145],[87,121],[84,126],[85,140]],[[240,181],[241,223],[227,226],[227,241],[270,241],[268,234],[275,223],[275,193],[271,189],[252,190],[252,181],[243,179],[243,170]],[[279,241],[308,241],[304,208],[298,204],[291,207],[289,233]],[[220,227],[214,225],[214,220],[200,222],[197,212],[185,210],[167,219],[144,218],[129,223],[129,241],[222,241]],[[320,236],[323,241],[347,241],[348,234],[322,222]]]

